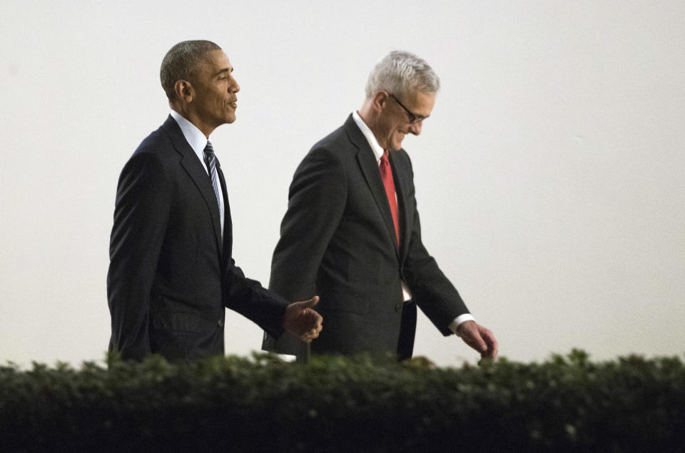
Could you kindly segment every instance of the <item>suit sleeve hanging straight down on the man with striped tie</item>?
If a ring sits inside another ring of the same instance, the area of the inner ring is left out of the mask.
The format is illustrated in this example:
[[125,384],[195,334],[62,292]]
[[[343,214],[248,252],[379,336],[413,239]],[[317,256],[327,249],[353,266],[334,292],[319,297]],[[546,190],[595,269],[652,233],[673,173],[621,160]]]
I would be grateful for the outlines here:
[[135,153],[116,190],[107,295],[112,321],[110,350],[123,359],[150,354],[150,292],[171,205],[171,184],[152,153]]

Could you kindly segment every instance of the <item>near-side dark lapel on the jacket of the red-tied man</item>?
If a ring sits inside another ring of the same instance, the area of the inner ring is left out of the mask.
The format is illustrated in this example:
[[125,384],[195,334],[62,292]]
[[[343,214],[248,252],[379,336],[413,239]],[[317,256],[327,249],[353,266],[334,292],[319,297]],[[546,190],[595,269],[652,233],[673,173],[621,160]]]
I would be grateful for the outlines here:
[[350,115],[345,122],[345,129],[347,130],[347,136],[350,141],[355,145],[359,151],[357,151],[357,162],[366,183],[369,185],[373,198],[376,201],[378,210],[382,215],[383,221],[385,222],[385,228],[387,228],[387,233],[392,240],[392,245],[395,246],[395,253],[397,253],[397,259],[400,258],[400,250],[397,249],[397,237],[395,235],[395,224],[392,222],[392,213],[390,213],[390,205],[387,203],[387,195],[385,194],[385,187],[383,186],[383,181],[380,178],[380,170],[378,170],[378,164],[376,158],[373,154],[371,146],[366,140],[362,131],[359,130],[355,120],[352,119]]

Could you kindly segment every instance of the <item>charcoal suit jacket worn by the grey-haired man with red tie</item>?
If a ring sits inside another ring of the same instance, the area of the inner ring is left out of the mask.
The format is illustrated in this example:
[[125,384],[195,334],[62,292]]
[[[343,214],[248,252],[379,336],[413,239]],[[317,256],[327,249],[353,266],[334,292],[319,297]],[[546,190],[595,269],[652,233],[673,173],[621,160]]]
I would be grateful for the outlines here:
[[[351,115],[295,171],[270,287],[293,300],[320,295],[323,332],[312,352],[396,354],[405,307],[401,280],[444,335],[452,333],[455,317],[468,312],[421,242],[409,156],[390,153],[390,166],[400,208],[399,248],[377,161]],[[414,324],[403,333],[413,345],[415,307],[410,310]],[[263,347],[301,354],[293,343],[288,335],[275,342],[267,334]]]

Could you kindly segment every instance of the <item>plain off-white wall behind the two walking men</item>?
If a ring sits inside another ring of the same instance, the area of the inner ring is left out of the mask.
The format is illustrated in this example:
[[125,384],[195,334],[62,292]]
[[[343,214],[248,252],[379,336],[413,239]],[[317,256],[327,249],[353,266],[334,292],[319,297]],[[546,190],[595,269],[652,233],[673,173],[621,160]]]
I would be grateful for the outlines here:
[[[406,49],[442,80],[404,143],[424,242],[501,355],[685,351],[682,1],[108,3],[2,2],[0,362],[103,360],[118,174],[186,39],[222,46],[242,87],[212,141],[246,275],[268,283],[296,166]],[[228,354],[260,340],[228,312]],[[422,315],[415,354],[477,360]]]

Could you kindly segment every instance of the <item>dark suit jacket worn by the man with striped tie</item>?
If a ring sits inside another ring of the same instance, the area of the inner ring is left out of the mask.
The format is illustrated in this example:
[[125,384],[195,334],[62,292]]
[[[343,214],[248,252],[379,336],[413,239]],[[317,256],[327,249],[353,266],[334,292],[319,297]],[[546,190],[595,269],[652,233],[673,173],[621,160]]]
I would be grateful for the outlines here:
[[203,163],[169,116],[133,153],[119,178],[107,294],[110,350],[124,359],[223,354],[224,307],[280,335],[283,298],[245,278],[233,238],[223,172],[224,234]]

